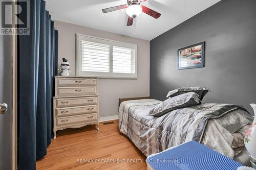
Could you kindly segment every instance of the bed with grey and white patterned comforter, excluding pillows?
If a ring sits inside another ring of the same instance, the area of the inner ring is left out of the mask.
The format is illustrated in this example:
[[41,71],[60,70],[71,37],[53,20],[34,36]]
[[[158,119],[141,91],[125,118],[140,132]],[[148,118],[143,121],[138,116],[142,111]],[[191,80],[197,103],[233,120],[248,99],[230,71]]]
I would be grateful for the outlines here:
[[119,131],[145,155],[195,140],[244,165],[250,165],[243,138],[252,116],[242,107],[205,103],[154,117],[148,112],[161,101],[119,99]]

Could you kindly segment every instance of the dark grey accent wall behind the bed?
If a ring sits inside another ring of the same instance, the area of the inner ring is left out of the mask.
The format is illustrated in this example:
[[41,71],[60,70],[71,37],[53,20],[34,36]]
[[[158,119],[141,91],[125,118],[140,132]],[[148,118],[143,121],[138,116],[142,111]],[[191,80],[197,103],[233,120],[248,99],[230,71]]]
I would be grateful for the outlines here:
[[[256,1],[222,0],[150,42],[150,95],[205,86],[204,103],[256,103]],[[164,15],[164,14],[163,14]],[[169,21],[170,22],[170,21]],[[205,67],[177,70],[177,50],[205,41]]]

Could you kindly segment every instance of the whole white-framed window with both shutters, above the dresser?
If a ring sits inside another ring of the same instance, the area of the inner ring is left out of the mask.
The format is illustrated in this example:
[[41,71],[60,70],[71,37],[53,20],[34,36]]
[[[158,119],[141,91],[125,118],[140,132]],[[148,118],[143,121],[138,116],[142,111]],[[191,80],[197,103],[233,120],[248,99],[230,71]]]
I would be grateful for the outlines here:
[[137,45],[76,35],[76,75],[137,78]]

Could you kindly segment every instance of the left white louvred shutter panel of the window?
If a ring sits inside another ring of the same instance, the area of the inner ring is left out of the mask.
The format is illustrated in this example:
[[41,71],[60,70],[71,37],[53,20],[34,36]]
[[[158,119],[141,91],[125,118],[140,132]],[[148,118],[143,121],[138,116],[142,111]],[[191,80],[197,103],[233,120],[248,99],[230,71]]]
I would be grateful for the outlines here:
[[80,41],[81,71],[110,71],[110,45]]

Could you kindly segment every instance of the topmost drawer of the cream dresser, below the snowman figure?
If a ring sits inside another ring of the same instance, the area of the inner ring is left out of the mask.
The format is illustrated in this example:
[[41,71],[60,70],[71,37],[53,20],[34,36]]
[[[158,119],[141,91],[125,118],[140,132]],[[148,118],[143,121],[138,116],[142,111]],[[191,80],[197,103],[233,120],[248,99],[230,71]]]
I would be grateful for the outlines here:
[[58,78],[58,86],[96,86],[96,79]]

